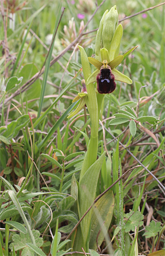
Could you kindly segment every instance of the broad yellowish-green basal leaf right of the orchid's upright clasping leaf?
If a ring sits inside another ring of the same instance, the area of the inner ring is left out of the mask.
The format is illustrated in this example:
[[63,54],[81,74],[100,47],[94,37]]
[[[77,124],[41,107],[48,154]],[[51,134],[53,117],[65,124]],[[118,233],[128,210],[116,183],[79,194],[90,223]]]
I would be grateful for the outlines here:
[[[107,230],[111,223],[114,211],[114,195],[112,191],[104,194],[97,203],[92,207],[91,211],[91,235],[90,235],[90,248],[97,250],[97,235],[100,228],[102,229],[99,238],[98,246],[102,244],[104,237],[106,237]],[[105,221],[105,223],[104,223]],[[103,224],[104,223],[104,224]]]

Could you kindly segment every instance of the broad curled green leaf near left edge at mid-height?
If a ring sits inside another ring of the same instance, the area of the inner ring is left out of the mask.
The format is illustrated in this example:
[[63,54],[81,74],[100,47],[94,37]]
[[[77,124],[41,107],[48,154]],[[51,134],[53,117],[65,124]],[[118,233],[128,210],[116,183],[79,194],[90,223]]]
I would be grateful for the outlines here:
[[10,124],[7,126],[7,130],[3,133],[5,137],[14,138],[16,137],[17,133],[26,126],[30,121],[29,115],[21,115],[16,119],[16,121],[12,121]]

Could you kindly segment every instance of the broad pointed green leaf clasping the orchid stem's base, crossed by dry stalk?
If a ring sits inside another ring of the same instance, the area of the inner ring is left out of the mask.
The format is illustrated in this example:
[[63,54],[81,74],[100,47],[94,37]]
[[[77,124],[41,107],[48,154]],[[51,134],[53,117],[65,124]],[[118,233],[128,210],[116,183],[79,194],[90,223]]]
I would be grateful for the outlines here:
[[[88,210],[90,205],[94,201],[97,182],[99,178],[99,172],[105,157],[104,152],[100,158],[91,165],[91,167],[86,171],[84,176],[82,177],[79,184],[79,207],[80,207],[80,215],[79,218]],[[88,237],[88,232],[90,228],[91,222],[91,212],[89,212],[81,222],[82,236],[84,242],[86,242]]]

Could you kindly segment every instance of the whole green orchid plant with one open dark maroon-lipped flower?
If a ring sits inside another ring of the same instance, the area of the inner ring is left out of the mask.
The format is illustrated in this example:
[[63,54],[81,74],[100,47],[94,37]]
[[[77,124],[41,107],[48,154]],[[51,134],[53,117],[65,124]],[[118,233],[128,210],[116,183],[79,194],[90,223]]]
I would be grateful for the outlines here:
[[[94,201],[99,172],[105,157],[105,152],[97,159],[99,113],[104,96],[112,93],[115,88],[115,80],[132,84],[132,80],[116,70],[116,67],[135,50],[130,49],[124,55],[119,55],[120,44],[123,36],[123,26],[118,25],[118,13],[116,6],[106,10],[101,18],[96,35],[95,58],[87,57],[85,50],[79,46],[82,61],[82,91],[74,98],[73,102],[80,100],[76,110],[68,116],[73,117],[87,106],[91,118],[91,138],[85,154],[79,183],[72,178],[71,194],[76,198],[79,218],[88,210]],[[90,63],[96,67],[91,73]],[[77,233],[72,235],[75,251],[83,249],[88,252],[91,229],[91,213],[85,216],[78,226]]]

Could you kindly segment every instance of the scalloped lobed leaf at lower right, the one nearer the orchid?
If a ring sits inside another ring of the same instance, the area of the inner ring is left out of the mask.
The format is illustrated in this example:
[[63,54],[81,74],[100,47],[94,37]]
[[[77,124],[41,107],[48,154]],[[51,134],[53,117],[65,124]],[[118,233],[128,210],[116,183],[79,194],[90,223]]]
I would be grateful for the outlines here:
[[143,214],[141,214],[141,212],[137,211],[135,213],[129,212],[127,214],[125,214],[125,217],[128,219],[131,215],[131,217],[129,218],[129,220],[125,223],[125,233],[130,232],[131,230],[134,232],[135,231],[135,227],[141,227],[143,225]]

